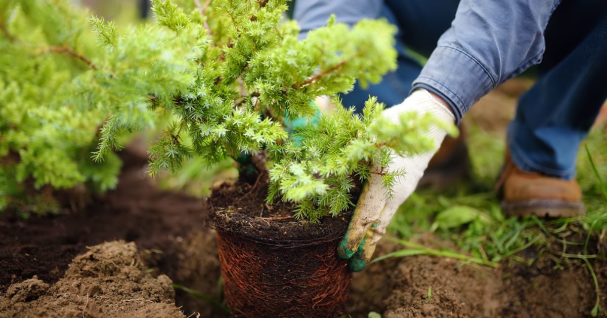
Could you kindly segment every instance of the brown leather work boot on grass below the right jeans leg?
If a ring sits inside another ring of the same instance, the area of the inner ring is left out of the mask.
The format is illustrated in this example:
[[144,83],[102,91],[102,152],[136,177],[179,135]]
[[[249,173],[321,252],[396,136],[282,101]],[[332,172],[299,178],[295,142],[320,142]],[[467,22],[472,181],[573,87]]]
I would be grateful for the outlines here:
[[496,189],[502,197],[501,209],[510,216],[569,218],[586,212],[582,190],[575,180],[523,171],[509,153]]

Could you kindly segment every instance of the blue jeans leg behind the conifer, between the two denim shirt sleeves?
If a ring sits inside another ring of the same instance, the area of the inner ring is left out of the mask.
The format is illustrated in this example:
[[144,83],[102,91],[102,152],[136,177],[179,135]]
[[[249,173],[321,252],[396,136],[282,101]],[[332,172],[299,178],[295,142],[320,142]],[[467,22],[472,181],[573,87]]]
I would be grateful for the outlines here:
[[439,2],[386,1],[381,17],[398,27],[395,46],[398,52],[398,69],[386,74],[380,83],[371,84],[366,89],[361,88],[357,82],[351,92],[341,94],[344,106],[355,106],[357,112],[362,112],[369,96],[378,97],[378,101],[385,103],[387,107],[402,103],[407,98],[413,80],[418,77],[422,68],[418,59],[407,52],[407,47],[419,54],[430,55],[438,38],[449,29],[451,21],[455,18],[459,1]]

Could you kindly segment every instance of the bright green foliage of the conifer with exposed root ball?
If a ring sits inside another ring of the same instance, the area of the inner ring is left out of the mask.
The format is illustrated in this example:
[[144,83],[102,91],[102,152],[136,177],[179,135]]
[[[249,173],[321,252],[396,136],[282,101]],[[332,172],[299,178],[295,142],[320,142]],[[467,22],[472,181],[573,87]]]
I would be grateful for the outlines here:
[[[103,127],[95,159],[120,147],[117,136],[140,129],[149,109],[157,109],[171,114],[174,123],[150,149],[151,174],[178,171],[193,156],[212,166],[265,149],[271,180],[268,201],[296,202],[296,216],[311,221],[350,209],[355,178],[365,181],[370,173],[380,173],[389,193],[404,172],[384,173],[391,150],[398,154],[429,151],[432,140],[419,136],[431,125],[439,125],[436,120],[405,114],[393,123],[380,116],[383,106],[375,99],[367,102],[363,116],[342,109],[336,101],[336,112],[299,126],[291,136],[283,120],[317,116],[313,103],[317,96],[347,92],[355,80],[362,85],[376,83],[395,69],[395,28],[371,20],[349,27],[331,18],[327,27],[299,40],[296,24],[282,21],[285,2],[214,0],[206,7],[190,1],[154,1],[158,24],[171,32],[163,39],[171,43],[164,52],[178,50],[169,56],[180,57],[181,68],[171,60],[162,65],[172,68],[150,69],[147,74],[164,83],[179,80],[163,86],[171,88],[168,91],[152,91],[142,83],[137,91],[118,94],[137,100],[137,105],[146,104],[135,107],[139,120],[134,120],[133,107],[120,106],[126,99],[104,103],[110,106],[112,117]],[[141,41],[161,37],[145,30],[121,43],[124,35],[115,35],[112,26],[92,22],[99,43],[109,47],[106,55],[130,52],[128,47],[137,43],[133,49],[137,55],[122,60],[128,54],[115,55],[108,63],[116,59],[118,65],[130,63],[149,52],[148,47],[141,48]],[[121,70],[113,70],[106,82],[122,78]],[[109,90],[122,88],[116,85]],[[371,171],[376,166],[384,168]]]

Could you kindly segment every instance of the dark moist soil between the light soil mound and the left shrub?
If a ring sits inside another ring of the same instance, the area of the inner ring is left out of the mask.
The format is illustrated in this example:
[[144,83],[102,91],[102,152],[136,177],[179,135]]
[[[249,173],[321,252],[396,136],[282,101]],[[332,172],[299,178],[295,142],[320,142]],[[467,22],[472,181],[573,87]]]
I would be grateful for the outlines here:
[[[134,241],[149,266],[160,268],[177,283],[200,284],[203,292],[216,290],[219,267],[205,272],[203,278],[192,278],[192,272],[203,270],[194,267],[205,263],[207,255],[192,251],[188,244],[194,241],[192,236],[210,237],[213,245],[202,246],[202,251],[211,252],[210,262],[218,264],[215,235],[205,226],[206,202],[159,190],[146,175],[146,158],[137,151],[127,148],[121,157],[124,165],[118,187],[93,197],[83,210],[27,220],[16,213],[0,214],[0,294],[33,275],[55,283],[87,246],[112,240]],[[196,260],[189,257],[192,254]],[[186,305],[185,309],[197,308],[187,306],[197,301],[177,292],[177,303]]]

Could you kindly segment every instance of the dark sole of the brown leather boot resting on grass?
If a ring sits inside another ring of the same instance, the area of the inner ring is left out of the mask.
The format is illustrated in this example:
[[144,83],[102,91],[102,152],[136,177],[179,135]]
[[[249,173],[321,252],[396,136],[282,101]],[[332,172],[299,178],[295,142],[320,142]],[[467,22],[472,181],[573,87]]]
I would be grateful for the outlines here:
[[586,208],[582,202],[558,200],[502,202],[501,209],[506,215],[517,217],[535,215],[540,218],[572,218],[586,213]]

